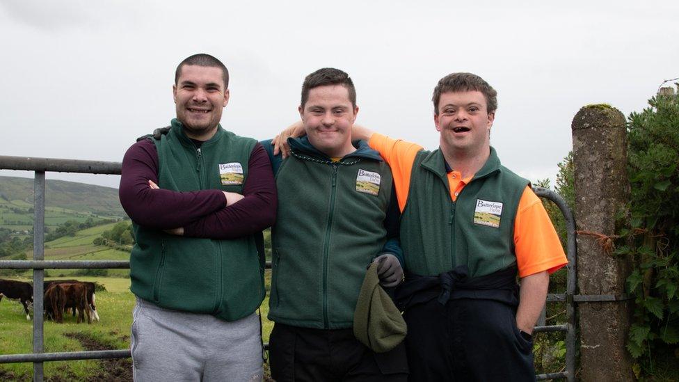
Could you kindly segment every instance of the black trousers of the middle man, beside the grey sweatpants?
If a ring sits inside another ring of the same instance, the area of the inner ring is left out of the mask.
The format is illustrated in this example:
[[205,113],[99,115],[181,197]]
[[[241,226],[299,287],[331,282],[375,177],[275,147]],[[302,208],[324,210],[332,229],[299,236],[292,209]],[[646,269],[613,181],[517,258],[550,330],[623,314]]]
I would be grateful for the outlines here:
[[323,330],[276,323],[269,338],[271,376],[287,381],[406,381],[403,342],[374,353],[352,329]]

